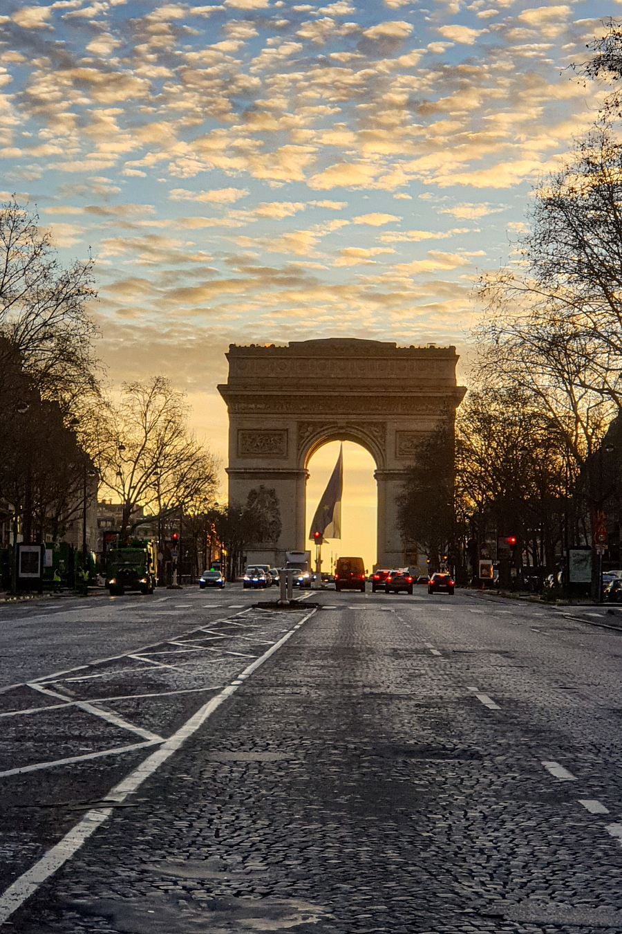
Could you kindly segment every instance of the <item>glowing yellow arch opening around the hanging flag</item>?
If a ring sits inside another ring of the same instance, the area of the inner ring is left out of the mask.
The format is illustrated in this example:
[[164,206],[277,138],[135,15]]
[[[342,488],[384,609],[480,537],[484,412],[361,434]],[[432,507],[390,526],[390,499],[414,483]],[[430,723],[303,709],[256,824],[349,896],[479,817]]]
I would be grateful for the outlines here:
[[[339,441],[323,441],[311,447],[306,459],[309,472],[306,489],[305,536],[326,483],[339,456]],[[376,462],[370,452],[353,441],[343,442],[343,495],[341,499],[341,538],[327,539],[322,546],[322,571],[330,573],[339,555],[360,556],[371,571],[376,563],[378,492],[374,479]],[[307,540],[306,548],[314,548]]]

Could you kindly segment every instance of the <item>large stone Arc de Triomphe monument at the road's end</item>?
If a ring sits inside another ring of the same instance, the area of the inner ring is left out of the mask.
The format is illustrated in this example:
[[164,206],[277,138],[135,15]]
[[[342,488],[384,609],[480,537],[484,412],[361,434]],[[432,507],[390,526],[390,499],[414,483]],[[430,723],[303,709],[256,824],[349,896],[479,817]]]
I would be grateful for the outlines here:
[[395,496],[422,435],[453,421],[465,389],[456,385],[455,347],[397,347],[329,338],[287,347],[229,346],[228,382],[218,387],[229,415],[229,502],[263,486],[279,499],[278,542],[248,561],[283,566],[285,551],[311,547],[305,488],[311,455],[328,441],[353,441],[376,462],[379,567],[403,563]]

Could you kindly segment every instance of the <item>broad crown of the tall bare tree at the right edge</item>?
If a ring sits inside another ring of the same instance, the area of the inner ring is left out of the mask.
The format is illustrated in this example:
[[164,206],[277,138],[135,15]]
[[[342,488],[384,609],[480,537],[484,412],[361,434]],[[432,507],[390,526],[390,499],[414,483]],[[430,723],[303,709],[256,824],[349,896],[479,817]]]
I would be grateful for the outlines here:
[[622,145],[581,139],[535,192],[520,260],[480,283],[478,376],[536,396],[577,462],[622,405]]

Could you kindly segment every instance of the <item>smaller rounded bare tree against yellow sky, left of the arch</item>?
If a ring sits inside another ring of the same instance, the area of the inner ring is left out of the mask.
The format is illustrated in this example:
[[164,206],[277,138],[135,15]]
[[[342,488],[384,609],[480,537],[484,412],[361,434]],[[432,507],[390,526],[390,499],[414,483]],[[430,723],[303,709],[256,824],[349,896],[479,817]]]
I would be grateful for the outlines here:
[[164,519],[213,500],[217,463],[189,432],[187,414],[184,393],[154,376],[124,383],[119,405],[106,403],[88,427],[102,486],[123,503],[121,537],[138,506]]

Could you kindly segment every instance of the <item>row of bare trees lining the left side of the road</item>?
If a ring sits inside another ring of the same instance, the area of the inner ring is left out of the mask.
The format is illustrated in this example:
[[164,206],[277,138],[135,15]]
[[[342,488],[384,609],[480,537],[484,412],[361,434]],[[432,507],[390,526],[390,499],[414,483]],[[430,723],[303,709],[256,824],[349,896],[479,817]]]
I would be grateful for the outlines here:
[[95,298],[90,259],[62,266],[36,214],[0,207],[0,509],[25,541],[62,538],[98,488],[123,504],[121,538],[138,507],[162,537],[214,502],[218,465],[184,393],[162,376],[124,384],[118,402],[106,392]]

